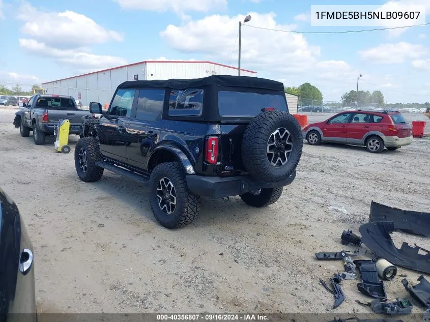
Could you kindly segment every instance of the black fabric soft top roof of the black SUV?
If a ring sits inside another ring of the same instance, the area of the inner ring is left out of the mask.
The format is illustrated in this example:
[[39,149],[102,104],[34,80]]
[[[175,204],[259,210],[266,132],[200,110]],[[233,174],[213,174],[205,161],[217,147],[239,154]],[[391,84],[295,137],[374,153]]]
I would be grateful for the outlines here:
[[258,77],[250,76],[218,76],[212,75],[194,79],[167,79],[167,80],[130,80],[121,83],[119,89],[139,89],[139,88],[164,88],[189,89],[202,86],[221,85],[228,87],[250,87],[254,89],[264,89],[272,91],[284,91],[283,83]]

